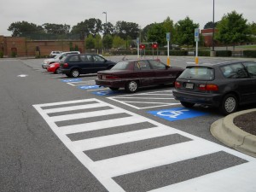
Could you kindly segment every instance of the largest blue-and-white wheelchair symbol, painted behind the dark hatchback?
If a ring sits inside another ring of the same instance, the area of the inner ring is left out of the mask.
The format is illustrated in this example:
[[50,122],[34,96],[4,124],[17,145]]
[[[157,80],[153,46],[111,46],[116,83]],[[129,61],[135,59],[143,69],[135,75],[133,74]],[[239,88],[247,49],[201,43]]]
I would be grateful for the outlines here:
[[190,108],[167,108],[160,111],[148,111],[148,113],[151,113],[154,116],[157,116],[169,121],[195,118],[198,116],[203,116],[208,114],[208,113],[196,111]]

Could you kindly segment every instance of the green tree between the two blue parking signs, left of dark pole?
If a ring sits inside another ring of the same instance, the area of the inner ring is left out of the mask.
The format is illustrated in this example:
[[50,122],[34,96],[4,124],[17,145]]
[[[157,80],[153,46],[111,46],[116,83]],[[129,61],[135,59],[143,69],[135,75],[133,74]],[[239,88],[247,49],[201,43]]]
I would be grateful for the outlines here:
[[179,20],[175,24],[175,40],[179,45],[193,45],[195,44],[195,28],[198,28],[199,24],[195,24],[193,20],[190,20],[187,16],[184,20]]

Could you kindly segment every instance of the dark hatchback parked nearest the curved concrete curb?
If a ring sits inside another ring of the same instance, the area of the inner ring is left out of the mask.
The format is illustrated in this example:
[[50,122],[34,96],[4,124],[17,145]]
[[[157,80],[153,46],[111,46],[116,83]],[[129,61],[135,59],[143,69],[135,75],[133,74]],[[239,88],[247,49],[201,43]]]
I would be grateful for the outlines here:
[[186,108],[198,103],[217,107],[224,114],[234,113],[238,105],[256,102],[256,62],[188,66],[175,88],[173,96]]

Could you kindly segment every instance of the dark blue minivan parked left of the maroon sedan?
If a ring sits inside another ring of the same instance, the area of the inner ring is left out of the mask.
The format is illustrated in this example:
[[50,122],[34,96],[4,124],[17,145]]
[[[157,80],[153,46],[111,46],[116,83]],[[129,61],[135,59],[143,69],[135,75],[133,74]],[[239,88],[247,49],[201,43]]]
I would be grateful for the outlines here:
[[60,61],[60,73],[67,77],[78,78],[80,74],[97,73],[112,68],[116,63],[100,55],[67,55]]

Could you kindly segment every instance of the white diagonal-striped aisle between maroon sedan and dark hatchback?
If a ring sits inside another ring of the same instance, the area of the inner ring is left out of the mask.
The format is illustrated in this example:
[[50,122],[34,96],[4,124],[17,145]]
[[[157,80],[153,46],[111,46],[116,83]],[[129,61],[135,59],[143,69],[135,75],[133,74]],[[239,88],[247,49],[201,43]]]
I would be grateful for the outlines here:
[[[157,97],[152,97],[152,96],[157,96]],[[177,102],[172,96],[172,90],[138,93],[138,94],[132,94],[132,95],[125,95],[125,96],[110,96],[108,97],[108,99],[113,100],[114,102],[120,102],[124,105],[127,105],[131,108],[136,108],[136,109],[159,108],[159,107],[165,107],[165,106],[180,105],[180,102]],[[125,99],[125,101],[123,101],[122,99]],[[143,101],[139,101],[139,102],[134,101],[138,99],[142,99]],[[151,100],[151,101],[165,100],[165,102],[149,102],[148,100]],[[173,102],[170,102],[169,100]],[[146,106],[139,107],[138,104],[146,105]]]

